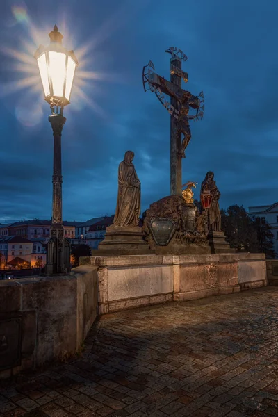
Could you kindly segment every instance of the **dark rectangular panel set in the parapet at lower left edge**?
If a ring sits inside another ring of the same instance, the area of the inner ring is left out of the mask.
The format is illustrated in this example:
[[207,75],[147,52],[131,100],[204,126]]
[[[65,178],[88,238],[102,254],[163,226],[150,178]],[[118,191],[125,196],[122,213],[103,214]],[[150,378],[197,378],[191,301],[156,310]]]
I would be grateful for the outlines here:
[[0,370],[21,364],[22,319],[0,320]]

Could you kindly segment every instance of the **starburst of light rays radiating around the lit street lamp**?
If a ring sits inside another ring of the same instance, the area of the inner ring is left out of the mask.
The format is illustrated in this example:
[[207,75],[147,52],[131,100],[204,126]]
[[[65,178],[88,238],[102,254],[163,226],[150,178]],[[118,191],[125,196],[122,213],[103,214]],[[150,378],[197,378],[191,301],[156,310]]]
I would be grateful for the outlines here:
[[[10,0],[13,2],[11,7],[10,20],[8,26],[21,25],[24,26],[24,36],[20,38],[18,49],[10,47],[6,44],[0,44],[0,58],[1,54],[13,58],[13,64],[8,63],[9,76],[6,77],[5,83],[0,83],[0,99],[4,99],[7,95],[19,93],[23,94],[21,90],[25,90],[30,94],[28,99],[29,106],[26,106],[25,102],[18,102],[15,104],[15,116],[17,120],[25,126],[35,126],[40,123],[43,111],[42,101],[42,82],[40,81],[40,75],[38,70],[38,63],[34,58],[35,49],[40,44],[47,46],[49,39],[47,34],[51,29],[49,24],[40,24],[35,26],[32,22],[31,15],[28,15],[28,9],[24,0]],[[150,0],[143,0],[138,8],[142,8],[143,4]],[[107,55],[101,53],[101,43],[107,38],[113,35],[113,32],[119,30],[120,27],[126,22],[126,8],[129,7],[130,0],[124,0],[120,8],[115,10],[110,17],[101,24],[99,31],[87,42],[80,44],[79,48],[74,45],[74,39],[76,33],[72,33],[70,27],[66,22],[71,19],[63,18],[63,10],[58,10],[57,15],[58,26],[60,32],[64,35],[65,47],[67,49],[74,49],[77,60],[79,60],[79,67],[76,69],[74,75],[74,83],[72,88],[72,106],[74,110],[83,111],[83,108],[90,107],[97,115],[105,120],[111,120],[113,115],[108,115],[103,108],[101,108],[100,102],[103,101],[104,95],[108,92],[107,83],[129,83],[124,76],[115,74],[115,72],[104,72],[99,70],[102,68],[103,61],[105,60],[106,67],[109,67],[109,58]],[[132,13],[136,14],[138,11],[137,6],[132,8]],[[60,24],[59,24],[60,20]],[[54,20],[56,22],[56,19]],[[16,33],[18,35],[18,33]],[[97,54],[97,51],[100,51]],[[92,56],[94,58],[92,59]],[[96,65],[97,64],[97,65]],[[111,65],[110,65],[111,66]],[[17,72],[16,79],[13,79],[12,74]],[[21,74],[22,77],[18,77]],[[104,85],[105,83],[105,85]],[[38,104],[37,100],[40,97],[41,104]],[[33,103],[36,103],[33,106]],[[35,117],[31,120],[30,113]]]

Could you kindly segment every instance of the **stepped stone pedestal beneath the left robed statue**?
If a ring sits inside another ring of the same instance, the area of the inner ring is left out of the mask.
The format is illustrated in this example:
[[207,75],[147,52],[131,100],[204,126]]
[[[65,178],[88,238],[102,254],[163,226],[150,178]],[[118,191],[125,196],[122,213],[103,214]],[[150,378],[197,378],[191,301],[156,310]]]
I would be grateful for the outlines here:
[[138,255],[152,254],[149,245],[143,240],[141,227],[107,227],[104,240],[99,243],[98,250],[92,250],[92,256],[108,255]]

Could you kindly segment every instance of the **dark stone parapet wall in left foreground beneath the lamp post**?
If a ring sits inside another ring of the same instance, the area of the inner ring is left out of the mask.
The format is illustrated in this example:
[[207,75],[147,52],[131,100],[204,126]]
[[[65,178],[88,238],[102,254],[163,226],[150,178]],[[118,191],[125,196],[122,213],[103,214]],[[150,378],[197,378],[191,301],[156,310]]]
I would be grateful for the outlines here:
[[74,354],[96,317],[91,265],[67,276],[0,281],[0,377]]

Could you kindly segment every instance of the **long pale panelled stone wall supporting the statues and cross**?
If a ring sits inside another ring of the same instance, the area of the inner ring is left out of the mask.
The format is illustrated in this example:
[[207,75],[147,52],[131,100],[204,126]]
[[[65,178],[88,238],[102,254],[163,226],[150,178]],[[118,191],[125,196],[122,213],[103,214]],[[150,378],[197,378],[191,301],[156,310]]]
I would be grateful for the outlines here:
[[99,314],[266,285],[264,254],[91,256]]

